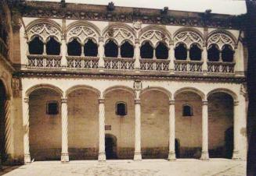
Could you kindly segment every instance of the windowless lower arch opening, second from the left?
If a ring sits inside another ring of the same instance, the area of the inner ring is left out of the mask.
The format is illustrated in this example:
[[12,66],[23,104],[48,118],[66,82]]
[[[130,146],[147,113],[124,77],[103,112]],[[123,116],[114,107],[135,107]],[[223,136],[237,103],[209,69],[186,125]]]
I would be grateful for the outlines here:
[[70,160],[96,160],[99,150],[98,94],[74,89],[67,94]]

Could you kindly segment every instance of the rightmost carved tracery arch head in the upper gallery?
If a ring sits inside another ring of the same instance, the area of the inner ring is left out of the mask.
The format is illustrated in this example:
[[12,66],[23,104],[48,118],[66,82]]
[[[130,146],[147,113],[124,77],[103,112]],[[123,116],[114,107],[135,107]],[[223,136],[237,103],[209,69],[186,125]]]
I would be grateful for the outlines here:
[[217,44],[219,49],[222,49],[225,44],[231,46],[233,50],[236,48],[236,37],[226,30],[214,30],[207,36],[207,48],[212,44]]

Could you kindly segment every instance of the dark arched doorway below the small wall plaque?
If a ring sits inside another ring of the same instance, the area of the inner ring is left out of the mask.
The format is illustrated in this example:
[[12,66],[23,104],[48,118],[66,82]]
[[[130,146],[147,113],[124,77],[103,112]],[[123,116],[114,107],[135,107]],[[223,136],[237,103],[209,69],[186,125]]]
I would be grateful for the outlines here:
[[105,137],[106,159],[117,159],[117,139],[114,136],[106,135]]

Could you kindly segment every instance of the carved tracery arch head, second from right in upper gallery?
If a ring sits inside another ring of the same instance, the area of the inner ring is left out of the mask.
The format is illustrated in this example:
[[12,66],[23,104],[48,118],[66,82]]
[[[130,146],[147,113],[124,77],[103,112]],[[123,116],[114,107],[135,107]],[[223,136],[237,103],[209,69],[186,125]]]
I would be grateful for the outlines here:
[[174,33],[174,44],[186,44],[186,48],[190,48],[192,44],[197,44],[200,48],[203,48],[204,37],[199,30],[182,27]]

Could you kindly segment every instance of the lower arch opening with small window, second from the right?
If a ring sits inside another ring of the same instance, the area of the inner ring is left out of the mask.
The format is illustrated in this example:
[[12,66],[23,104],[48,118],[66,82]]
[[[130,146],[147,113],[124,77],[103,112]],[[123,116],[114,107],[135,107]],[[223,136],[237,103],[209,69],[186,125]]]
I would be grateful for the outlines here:
[[[184,114],[184,107],[193,114]],[[177,158],[197,158],[202,149],[202,97],[192,91],[175,95],[175,153]]]

